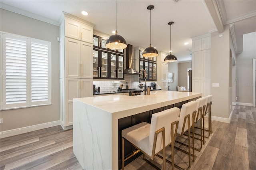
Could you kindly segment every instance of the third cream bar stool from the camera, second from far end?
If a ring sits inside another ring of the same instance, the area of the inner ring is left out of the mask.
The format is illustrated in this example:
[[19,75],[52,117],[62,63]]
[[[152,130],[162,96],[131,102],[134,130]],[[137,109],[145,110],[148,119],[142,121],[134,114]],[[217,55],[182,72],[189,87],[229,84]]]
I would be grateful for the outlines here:
[[[196,99],[197,101],[197,105],[196,105],[196,119],[195,119],[195,123],[197,123],[198,121],[200,121],[200,134],[198,133],[195,133],[196,135],[199,135],[200,138],[196,138],[197,140],[200,140],[200,148],[195,148],[195,150],[197,151],[201,151],[202,149],[202,144],[204,144],[204,127],[203,127],[203,124],[202,124],[202,120],[204,120],[204,110],[205,110],[205,102],[206,102],[206,97],[201,97],[199,99]],[[195,128],[197,128],[195,126]]]

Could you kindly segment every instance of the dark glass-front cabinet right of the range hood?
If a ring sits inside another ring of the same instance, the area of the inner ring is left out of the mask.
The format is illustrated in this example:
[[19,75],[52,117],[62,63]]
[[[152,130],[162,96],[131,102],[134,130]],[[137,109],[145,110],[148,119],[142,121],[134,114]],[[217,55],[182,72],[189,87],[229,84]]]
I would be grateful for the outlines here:
[[[145,58],[142,56],[142,50],[140,53],[140,67],[139,69],[144,69],[146,71],[146,80],[156,81],[156,57]],[[140,75],[140,78],[144,80],[144,72]]]

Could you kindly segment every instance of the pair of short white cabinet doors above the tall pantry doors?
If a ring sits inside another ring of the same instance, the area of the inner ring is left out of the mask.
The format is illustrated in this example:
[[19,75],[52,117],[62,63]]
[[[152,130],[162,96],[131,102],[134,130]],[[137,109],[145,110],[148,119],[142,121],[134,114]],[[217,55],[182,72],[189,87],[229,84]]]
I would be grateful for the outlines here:
[[65,36],[93,43],[93,28],[74,19],[65,18]]

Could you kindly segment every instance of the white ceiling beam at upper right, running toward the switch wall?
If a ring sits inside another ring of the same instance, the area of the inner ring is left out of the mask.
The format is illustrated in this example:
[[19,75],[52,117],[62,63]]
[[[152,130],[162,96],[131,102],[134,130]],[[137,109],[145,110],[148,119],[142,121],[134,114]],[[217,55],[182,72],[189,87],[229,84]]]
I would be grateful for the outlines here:
[[204,2],[210,12],[216,29],[218,30],[219,33],[224,32],[224,26],[216,0],[204,0]]

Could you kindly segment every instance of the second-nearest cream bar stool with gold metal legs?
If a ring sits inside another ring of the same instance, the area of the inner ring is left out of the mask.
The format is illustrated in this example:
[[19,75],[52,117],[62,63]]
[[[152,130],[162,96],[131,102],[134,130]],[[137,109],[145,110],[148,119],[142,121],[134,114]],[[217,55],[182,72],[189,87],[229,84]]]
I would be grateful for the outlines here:
[[[197,101],[190,101],[188,103],[185,103],[182,105],[181,110],[180,110],[180,119],[179,119],[179,124],[178,124],[178,130],[177,130],[177,135],[183,136],[185,132],[188,131],[188,134],[190,134],[190,128],[192,128],[192,158],[194,162],[195,158],[195,150],[194,150],[194,121],[196,117],[196,105]],[[188,147],[188,152],[185,150],[182,150],[178,147],[175,146],[176,149],[188,154],[188,168],[190,168],[191,163],[190,163],[190,135],[188,135],[188,144],[184,144],[183,142],[180,142],[176,140],[177,143],[182,144],[184,146]]]

